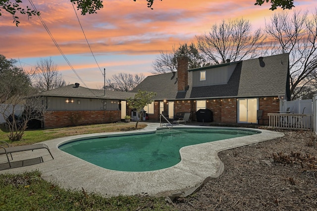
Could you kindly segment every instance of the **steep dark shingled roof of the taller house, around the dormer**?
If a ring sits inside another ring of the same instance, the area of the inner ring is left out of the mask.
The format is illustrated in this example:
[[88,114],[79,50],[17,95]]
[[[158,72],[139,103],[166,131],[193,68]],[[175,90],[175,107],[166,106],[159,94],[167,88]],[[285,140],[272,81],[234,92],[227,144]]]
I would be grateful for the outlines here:
[[[207,67],[192,69],[188,72],[187,91],[177,92],[177,73],[166,73],[148,76],[141,84],[133,89],[153,91],[157,93],[156,100],[225,98],[225,97],[260,97],[285,95],[288,77],[288,53],[266,56],[263,58],[264,67],[259,59],[249,59],[232,62],[236,65],[227,84],[192,86],[192,73],[206,70]],[[225,64],[228,65],[228,64]],[[217,68],[221,65],[210,66]]]

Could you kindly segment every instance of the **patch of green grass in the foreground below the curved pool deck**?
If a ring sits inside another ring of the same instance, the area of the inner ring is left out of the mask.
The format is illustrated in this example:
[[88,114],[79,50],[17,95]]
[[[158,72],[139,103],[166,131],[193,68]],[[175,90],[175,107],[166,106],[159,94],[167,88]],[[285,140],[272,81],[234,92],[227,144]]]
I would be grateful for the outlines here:
[[163,197],[104,198],[85,190],[64,190],[41,178],[41,172],[0,174],[1,211],[173,211]]

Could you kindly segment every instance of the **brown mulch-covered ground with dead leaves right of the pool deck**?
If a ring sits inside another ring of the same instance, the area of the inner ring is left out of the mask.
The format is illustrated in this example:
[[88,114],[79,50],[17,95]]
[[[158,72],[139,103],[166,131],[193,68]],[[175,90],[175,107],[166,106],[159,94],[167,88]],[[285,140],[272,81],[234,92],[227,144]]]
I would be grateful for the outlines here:
[[174,201],[186,211],[316,211],[317,148],[310,131],[218,154],[223,174]]

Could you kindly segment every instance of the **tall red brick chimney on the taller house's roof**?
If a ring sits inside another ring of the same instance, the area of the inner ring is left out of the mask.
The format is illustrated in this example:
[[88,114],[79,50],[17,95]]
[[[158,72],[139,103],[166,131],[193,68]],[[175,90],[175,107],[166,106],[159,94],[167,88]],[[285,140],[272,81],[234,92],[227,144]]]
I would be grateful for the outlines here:
[[177,57],[177,91],[188,89],[188,57]]

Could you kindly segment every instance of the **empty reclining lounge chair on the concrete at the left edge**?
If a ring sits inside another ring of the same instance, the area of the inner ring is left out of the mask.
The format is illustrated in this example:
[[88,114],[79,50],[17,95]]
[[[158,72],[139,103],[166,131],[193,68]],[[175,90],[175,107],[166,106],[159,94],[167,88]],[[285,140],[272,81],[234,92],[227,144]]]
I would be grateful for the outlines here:
[[[0,141],[0,143],[1,142],[2,142],[2,145],[0,145],[0,155],[4,155],[4,154],[6,155],[6,158],[8,160],[10,168],[11,168],[11,163],[10,163],[8,154],[10,154],[11,159],[13,160],[12,153],[14,153],[14,152],[23,152],[23,151],[29,151],[29,150],[33,151],[36,149],[47,149],[53,158],[53,155],[52,155],[49,147],[46,144],[31,144],[31,145],[22,145],[22,146],[10,147],[7,142]],[[6,147],[4,147],[3,144],[5,144]]]

